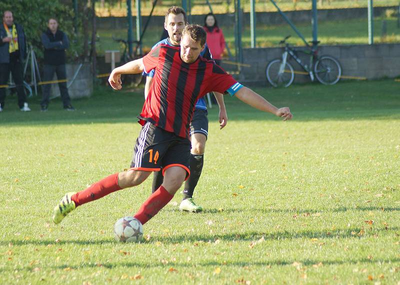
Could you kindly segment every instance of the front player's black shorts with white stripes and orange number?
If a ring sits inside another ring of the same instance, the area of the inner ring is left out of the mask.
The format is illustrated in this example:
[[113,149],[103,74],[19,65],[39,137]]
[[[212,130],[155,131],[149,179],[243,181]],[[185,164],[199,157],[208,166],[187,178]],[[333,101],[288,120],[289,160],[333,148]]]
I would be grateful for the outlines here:
[[190,141],[146,122],[133,150],[130,170],[159,171],[180,166],[189,176]]

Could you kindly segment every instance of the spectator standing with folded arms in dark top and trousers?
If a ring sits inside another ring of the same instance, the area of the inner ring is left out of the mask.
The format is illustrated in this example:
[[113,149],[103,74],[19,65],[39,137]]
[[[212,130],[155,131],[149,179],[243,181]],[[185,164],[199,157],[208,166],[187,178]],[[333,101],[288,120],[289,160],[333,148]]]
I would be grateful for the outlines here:
[[[51,81],[55,74],[57,80],[66,79],[65,50],[69,47],[68,37],[58,30],[58,23],[55,19],[48,19],[47,31],[41,34],[41,43],[44,46],[44,81]],[[40,103],[40,110],[46,112],[50,102],[50,84],[43,85],[43,98]],[[64,110],[74,111],[71,105],[66,82],[58,82]]]

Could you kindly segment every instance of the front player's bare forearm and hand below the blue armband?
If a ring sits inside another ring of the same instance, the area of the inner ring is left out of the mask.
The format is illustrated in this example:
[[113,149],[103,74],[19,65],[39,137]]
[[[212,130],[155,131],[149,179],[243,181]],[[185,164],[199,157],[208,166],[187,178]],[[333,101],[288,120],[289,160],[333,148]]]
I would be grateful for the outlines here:
[[263,112],[272,113],[275,116],[283,118],[283,121],[290,120],[293,117],[288,107],[278,109],[247,87],[242,87],[234,95],[247,105]]

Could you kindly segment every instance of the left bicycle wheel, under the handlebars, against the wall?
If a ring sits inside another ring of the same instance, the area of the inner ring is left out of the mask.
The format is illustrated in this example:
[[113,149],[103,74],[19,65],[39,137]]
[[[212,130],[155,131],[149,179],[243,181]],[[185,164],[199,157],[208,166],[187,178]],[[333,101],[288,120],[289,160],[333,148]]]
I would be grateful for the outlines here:
[[273,87],[287,87],[294,80],[292,66],[286,62],[282,67],[282,60],[275,59],[268,63],[265,69],[266,79]]

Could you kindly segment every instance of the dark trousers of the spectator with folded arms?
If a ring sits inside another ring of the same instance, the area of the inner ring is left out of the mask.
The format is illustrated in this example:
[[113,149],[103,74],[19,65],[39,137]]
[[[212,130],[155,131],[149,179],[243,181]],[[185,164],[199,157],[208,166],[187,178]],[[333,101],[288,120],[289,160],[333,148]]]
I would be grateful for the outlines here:
[[[51,81],[53,75],[57,75],[57,80],[66,79],[66,69],[65,65],[44,65],[44,76],[43,81]],[[50,102],[50,84],[44,84],[42,87],[43,98],[40,102],[41,106],[47,106]],[[61,94],[62,105],[64,107],[71,104],[71,99],[69,98],[68,88],[66,88],[66,82],[58,83],[59,93]]]

